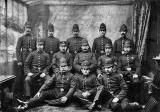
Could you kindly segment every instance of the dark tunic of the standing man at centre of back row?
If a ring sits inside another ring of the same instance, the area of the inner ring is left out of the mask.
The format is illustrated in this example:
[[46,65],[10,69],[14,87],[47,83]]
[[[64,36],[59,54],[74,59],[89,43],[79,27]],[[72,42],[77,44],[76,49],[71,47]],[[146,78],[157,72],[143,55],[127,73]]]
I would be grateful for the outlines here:
[[73,60],[75,58],[75,55],[80,52],[82,39],[84,39],[84,38],[71,37],[71,38],[67,39],[69,53],[71,53]]

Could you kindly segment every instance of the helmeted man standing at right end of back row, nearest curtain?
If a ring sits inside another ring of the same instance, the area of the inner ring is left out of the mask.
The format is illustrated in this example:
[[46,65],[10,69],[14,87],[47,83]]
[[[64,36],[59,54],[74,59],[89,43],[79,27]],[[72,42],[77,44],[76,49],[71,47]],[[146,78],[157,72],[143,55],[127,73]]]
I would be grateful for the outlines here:
[[116,57],[119,57],[121,54],[124,54],[123,48],[124,48],[124,43],[126,40],[131,41],[131,44],[133,47],[132,52],[134,53],[134,51],[135,51],[134,43],[131,39],[127,38],[127,36],[126,36],[126,33],[128,31],[127,26],[125,24],[123,24],[119,31],[121,33],[121,37],[119,39],[115,40],[115,42],[114,42],[114,48],[113,48],[114,55]]

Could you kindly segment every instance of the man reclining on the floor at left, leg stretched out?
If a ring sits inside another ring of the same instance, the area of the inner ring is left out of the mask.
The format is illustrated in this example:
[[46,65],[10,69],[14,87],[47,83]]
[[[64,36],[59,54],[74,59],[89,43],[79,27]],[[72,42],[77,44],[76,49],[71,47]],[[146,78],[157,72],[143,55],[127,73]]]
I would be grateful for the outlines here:
[[59,72],[48,79],[37,94],[27,102],[20,101],[19,110],[47,102],[50,105],[64,105],[74,93],[76,83],[73,74],[68,71],[65,58],[60,59]]

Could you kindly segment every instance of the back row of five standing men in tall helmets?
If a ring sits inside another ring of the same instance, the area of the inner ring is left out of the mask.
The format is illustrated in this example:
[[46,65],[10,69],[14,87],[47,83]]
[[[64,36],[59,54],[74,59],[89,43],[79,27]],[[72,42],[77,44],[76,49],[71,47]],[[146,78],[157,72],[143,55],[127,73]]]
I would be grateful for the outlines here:
[[[31,35],[32,28],[29,22],[26,23],[25,30],[26,34],[18,39],[16,47],[17,60],[19,65],[22,65],[25,62],[30,52],[36,50],[37,38]],[[77,24],[74,24],[72,29],[73,37],[67,39],[68,51],[72,55],[73,59],[77,53],[81,52],[81,42],[84,39],[83,37],[79,36],[79,32],[79,26]],[[92,46],[92,52],[95,53],[96,59],[98,59],[99,56],[105,54],[105,44],[109,43],[112,45],[111,39],[105,36],[106,26],[104,23],[100,25],[99,32],[100,36],[94,39]],[[134,45],[133,41],[126,37],[126,25],[123,24],[121,26],[120,32],[121,37],[114,42],[113,47],[113,53],[116,57],[119,57],[123,52],[124,42],[126,40],[131,41],[132,46]],[[54,26],[52,24],[49,24],[48,37],[44,38],[44,51],[49,54],[51,60],[53,58],[53,55],[59,51],[59,43],[59,39],[54,37]],[[132,50],[135,51],[134,47]]]

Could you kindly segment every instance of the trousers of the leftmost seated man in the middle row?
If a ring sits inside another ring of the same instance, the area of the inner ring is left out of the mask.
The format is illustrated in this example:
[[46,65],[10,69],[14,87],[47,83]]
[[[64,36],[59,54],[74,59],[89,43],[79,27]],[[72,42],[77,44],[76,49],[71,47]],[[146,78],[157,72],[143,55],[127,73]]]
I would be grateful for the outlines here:
[[33,86],[33,83],[36,82],[36,80],[39,80],[42,82],[47,80],[48,79],[48,76],[45,76],[44,78],[40,78],[39,75],[37,76],[26,76],[25,80],[24,80],[24,89],[25,89],[25,96],[26,97],[31,97],[33,91],[32,90],[32,86]]

